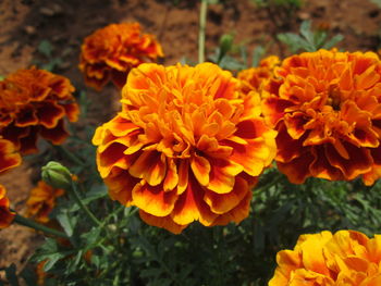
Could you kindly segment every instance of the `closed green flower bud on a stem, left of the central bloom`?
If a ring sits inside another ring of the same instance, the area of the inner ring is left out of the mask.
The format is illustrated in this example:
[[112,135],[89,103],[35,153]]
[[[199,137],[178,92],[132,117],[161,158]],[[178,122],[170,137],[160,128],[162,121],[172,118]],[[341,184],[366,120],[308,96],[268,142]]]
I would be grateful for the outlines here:
[[53,188],[69,189],[72,186],[72,174],[59,162],[50,161],[42,166],[41,177]]

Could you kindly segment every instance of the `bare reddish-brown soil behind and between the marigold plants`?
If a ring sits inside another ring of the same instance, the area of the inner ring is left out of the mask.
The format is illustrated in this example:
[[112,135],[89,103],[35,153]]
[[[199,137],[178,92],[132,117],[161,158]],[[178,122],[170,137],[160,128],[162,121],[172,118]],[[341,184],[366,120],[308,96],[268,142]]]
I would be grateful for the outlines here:
[[[179,4],[174,4],[180,2]],[[211,52],[219,37],[234,33],[236,42],[253,50],[256,45],[273,42],[271,34],[279,33],[265,10],[256,9],[249,0],[223,1],[209,8],[207,48]],[[67,76],[78,90],[86,90],[93,102],[86,124],[108,121],[118,110],[119,92],[108,86],[95,92],[84,86],[77,69],[81,42],[95,29],[110,23],[137,21],[146,33],[157,35],[165,53],[164,64],[174,64],[183,57],[197,60],[198,1],[183,0],[2,0],[0,1],[0,75],[29,66],[44,60],[37,52],[41,40],[53,45],[53,55],[61,58],[54,72]],[[342,49],[376,50],[381,30],[380,10],[367,0],[314,0],[291,18],[288,26],[297,30],[302,20],[329,26],[332,34],[345,36]],[[284,54],[274,42],[270,52]],[[110,100],[110,98],[112,100]],[[0,176],[12,207],[24,210],[28,192],[36,183],[36,170],[28,163]],[[0,268],[22,265],[38,244],[35,233],[21,226],[0,232]]]

